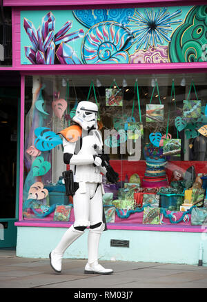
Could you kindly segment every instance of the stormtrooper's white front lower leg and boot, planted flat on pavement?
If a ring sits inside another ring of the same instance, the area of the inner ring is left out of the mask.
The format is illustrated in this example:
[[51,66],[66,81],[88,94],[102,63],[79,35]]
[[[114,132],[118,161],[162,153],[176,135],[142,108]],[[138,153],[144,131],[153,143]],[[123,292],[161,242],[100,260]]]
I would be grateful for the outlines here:
[[99,240],[105,225],[88,231],[88,263],[85,266],[85,274],[112,274],[113,270],[103,268],[98,263]]

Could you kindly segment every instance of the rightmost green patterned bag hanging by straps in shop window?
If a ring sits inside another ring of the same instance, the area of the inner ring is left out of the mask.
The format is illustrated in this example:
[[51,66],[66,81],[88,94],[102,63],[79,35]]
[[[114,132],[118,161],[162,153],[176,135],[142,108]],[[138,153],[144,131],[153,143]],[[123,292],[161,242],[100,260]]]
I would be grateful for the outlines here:
[[[190,92],[192,87],[195,90],[195,96],[197,100],[190,101]],[[186,122],[193,121],[194,119],[198,119],[201,116],[201,101],[197,97],[197,92],[195,89],[195,83],[194,81],[191,81],[190,83],[190,90],[188,93],[188,98],[184,100],[184,106],[183,106],[183,119]]]

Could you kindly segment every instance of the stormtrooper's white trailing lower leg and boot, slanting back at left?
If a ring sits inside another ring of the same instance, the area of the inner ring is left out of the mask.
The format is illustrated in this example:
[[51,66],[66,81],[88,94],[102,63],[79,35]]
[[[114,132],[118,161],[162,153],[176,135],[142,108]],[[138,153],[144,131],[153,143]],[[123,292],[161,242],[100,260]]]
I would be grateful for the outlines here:
[[52,250],[50,252],[50,265],[55,270],[55,272],[61,272],[61,266],[62,266],[62,259],[63,254],[68,248],[68,246],[79,238],[84,232],[75,230],[73,225],[63,234],[61,241],[58,243],[55,250]]

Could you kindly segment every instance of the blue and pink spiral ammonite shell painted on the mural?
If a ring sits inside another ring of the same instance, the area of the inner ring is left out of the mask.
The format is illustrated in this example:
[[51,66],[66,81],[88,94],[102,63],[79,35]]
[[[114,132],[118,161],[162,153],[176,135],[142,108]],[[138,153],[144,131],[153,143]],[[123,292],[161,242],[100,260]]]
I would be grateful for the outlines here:
[[126,50],[132,46],[133,34],[117,22],[100,22],[86,32],[81,46],[83,63],[129,63]]

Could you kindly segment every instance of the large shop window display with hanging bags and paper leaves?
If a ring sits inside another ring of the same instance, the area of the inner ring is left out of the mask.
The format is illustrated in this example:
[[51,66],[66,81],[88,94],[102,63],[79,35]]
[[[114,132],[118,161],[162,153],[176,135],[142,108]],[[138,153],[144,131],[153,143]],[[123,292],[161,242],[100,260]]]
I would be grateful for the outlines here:
[[[23,219],[73,221],[61,130],[77,103],[99,105],[117,184],[103,176],[109,223],[190,224],[207,177],[207,74],[39,75],[25,78]],[[199,202],[198,202],[199,201]],[[171,211],[177,214],[171,215]]]

